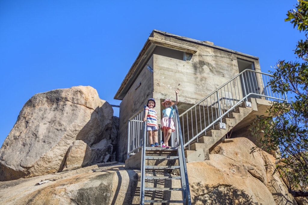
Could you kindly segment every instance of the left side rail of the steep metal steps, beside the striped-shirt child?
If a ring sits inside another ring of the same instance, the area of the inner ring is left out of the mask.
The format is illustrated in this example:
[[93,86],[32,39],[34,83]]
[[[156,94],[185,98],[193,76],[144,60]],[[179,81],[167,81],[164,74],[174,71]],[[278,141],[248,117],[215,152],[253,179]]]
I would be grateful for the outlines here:
[[[145,108],[147,106],[144,106],[144,114],[145,114]],[[141,155],[141,188],[140,188],[140,204],[144,204],[144,184],[145,184],[145,149],[146,149],[146,131],[147,122],[145,121],[143,123],[143,144],[142,144],[142,155]]]

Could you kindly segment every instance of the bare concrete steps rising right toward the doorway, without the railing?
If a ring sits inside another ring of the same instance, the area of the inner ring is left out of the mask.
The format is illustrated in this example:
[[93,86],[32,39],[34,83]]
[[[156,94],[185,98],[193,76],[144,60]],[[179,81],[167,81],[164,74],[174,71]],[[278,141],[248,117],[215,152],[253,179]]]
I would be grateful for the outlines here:
[[[255,106],[254,106],[255,107]],[[186,162],[204,161],[209,159],[209,150],[225,139],[225,135],[230,132],[233,127],[245,119],[250,113],[252,113],[253,107],[246,106],[245,102],[237,107],[235,111],[229,113],[222,122],[226,124],[226,129],[220,129],[219,124],[214,128],[207,130],[206,134],[199,137],[198,141],[195,140],[185,148]]]

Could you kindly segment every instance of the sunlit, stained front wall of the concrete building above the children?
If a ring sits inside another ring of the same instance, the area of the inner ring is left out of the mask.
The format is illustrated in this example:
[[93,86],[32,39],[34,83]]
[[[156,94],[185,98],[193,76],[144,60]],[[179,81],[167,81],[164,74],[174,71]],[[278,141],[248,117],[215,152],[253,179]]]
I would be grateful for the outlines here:
[[[237,58],[253,62],[255,70],[260,71],[259,61],[254,58],[185,42],[158,33],[154,33],[154,38],[191,46],[198,50],[190,61],[170,58],[163,54],[153,55],[155,70],[153,96],[160,100],[164,98],[175,100],[174,89],[179,87],[181,89],[179,102],[182,102],[178,106],[180,113],[238,74]],[[159,110],[157,105],[156,107],[156,110]]]

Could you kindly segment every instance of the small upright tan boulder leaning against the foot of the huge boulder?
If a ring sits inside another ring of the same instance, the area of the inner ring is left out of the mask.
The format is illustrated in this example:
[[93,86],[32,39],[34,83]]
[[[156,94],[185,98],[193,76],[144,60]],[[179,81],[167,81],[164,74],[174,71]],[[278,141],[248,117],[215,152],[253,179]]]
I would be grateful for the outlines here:
[[88,166],[91,158],[91,149],[82,140],[76,140],[68,148],[63,171],[79,169]]

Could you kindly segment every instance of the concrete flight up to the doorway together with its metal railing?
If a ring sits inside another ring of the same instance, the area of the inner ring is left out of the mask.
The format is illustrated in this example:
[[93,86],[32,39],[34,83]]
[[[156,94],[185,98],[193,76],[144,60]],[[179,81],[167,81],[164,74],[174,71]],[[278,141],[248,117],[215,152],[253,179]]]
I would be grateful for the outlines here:
[[[252,111],[249,98],[260,98],[267,101],[287,100],[286,93],[272,90],[269,84],[271,79],[270,74],[249,69],[243,70],[184,111],[179,116],[179,121],[182,125],[181,133],[183,133],[186,150],[195,150],[195,143],[201,140],[201,143],[208,142],[208,146],[204,149],[208,152],[211,146],[228,133],[223,130],[231,127],[231,121],[234,127],[244,119],[240,119],[241,117],[247,116]],[[191,148],[191,145],[194,146]]]

